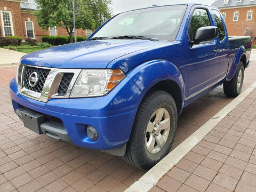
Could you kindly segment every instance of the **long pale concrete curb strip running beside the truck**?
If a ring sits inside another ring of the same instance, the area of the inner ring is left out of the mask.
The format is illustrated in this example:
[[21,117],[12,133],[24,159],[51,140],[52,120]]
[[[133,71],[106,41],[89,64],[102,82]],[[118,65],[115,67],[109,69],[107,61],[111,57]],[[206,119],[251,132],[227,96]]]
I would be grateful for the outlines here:
[[156,183],[169,172],[185,155],[199,143],[206,134],[208,134],[228,113],[241,103],[247,95],[256,88],[256,82],[244,90],[233,101],[228,103],[226,107],[221,109],[209,121],[201,126],[197,131],[191,134],[179,146],[173,149],[159,163],[145,173],[138,181],[134,182],[125,192],[147,192],[153,188]]

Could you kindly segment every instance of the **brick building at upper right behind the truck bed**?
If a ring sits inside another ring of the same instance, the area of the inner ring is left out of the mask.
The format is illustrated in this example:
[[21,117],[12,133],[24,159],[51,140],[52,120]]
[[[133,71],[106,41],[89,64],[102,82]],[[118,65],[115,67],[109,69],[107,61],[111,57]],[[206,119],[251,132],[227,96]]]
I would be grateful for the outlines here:
[[256,0],[218,0],[212,5],[222,13],[229,36],[252,36],[255,43]]

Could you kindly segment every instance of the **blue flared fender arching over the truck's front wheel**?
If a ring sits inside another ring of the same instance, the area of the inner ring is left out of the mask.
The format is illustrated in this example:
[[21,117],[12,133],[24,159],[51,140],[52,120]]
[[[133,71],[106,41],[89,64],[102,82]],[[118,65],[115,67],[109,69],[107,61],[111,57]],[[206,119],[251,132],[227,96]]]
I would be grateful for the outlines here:
[[180,70],[170,61],[152,60],[142,63],[131,70],[127,74],[127,77],[131,78],[141,89],[139,103],[155,84],[164,80],[174,81],[180,87],[183,107],[185,101],[185,84]]

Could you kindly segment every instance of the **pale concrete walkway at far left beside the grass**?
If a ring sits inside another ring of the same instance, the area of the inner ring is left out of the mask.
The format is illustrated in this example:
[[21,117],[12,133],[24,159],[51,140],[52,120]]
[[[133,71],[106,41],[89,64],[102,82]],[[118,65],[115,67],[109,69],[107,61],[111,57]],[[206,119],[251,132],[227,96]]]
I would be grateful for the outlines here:
[[0,48],[0,67],[15,65],[26,53]]

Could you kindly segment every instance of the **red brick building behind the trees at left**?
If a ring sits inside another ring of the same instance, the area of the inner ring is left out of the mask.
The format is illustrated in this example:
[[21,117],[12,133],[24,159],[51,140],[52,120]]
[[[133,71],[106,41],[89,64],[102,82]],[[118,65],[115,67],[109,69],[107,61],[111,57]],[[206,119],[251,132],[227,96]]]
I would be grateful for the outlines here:
[[[34,0],[0,0],[0,37],[11,35],[19,36],[23,40],[31,37],[42,41],[43,35],[68,36],[65,28],[40,28],[33,14],[35,10]],[[88,29],[76,29],[77,36],[89,36],[91,33]]]

